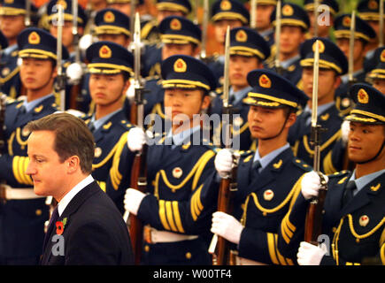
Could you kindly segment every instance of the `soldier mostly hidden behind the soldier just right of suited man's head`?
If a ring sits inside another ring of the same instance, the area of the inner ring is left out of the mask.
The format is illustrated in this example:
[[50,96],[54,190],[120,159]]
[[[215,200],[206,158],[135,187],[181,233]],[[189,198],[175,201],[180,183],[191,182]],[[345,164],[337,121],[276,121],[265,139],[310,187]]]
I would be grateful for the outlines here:
[[[125,49],[131,42],[130,19],[116,9],[107,8],[96,13],[94,34],[99,41],[114,42]],[[86,73],[81,88],[81,111],[92,113],[95,104],[89,96],[89,73]]]

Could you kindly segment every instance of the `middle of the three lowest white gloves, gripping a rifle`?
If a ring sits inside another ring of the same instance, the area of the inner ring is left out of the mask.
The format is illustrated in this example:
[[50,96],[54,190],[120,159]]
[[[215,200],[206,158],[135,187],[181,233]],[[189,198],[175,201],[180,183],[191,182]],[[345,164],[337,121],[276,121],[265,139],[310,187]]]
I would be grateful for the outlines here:
[[217,211],[212,213],[212,233],[216,233],[227,241],[239,244],[243,228],[238,220],[225,212]]

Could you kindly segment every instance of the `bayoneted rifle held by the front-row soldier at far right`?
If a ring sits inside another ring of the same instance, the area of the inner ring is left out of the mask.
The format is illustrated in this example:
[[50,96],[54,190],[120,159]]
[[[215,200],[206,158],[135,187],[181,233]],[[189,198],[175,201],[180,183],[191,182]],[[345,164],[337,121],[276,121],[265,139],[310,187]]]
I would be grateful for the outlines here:
[[309,204],[306,212],[304,226],[304,241],[312,244],[318,244],[318,237],[322,230],[322,210],[327,194],[327,181],[320,172],[320,133],[325,131],[317,123],[317,107],[318,107],[318,77],[320,69],[320,46],[319,41],[315,41],[316,49],[314,53],[313,65],[313,83],[312,83],[312,138],[311,142],[314,145],[313,169],[320,176],[320,192],[317,198],[314,198]]

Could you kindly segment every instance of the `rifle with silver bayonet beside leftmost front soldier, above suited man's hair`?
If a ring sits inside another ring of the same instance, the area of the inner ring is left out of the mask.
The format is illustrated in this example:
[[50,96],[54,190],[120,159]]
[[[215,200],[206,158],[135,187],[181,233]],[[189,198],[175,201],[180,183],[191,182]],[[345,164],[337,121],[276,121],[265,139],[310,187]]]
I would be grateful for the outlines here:
[[57,4],[58,8],[58,42],[57,42],[57,89],[60,95],[60,111],[65,111],[65,73],[63,73],[63,26],[64,26],[64,8],[61,4]]

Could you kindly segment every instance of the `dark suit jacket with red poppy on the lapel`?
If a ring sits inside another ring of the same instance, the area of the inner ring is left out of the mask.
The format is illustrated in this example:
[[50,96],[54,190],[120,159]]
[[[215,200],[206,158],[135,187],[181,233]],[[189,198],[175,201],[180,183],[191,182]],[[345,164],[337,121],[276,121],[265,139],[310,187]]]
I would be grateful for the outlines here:
[[133,264],[133,252],[127,226],[119,210],[96,181],[73,197],[58,221],[64,223],[64,256],[58,251],[56,226],[47,237],[42,265]]

